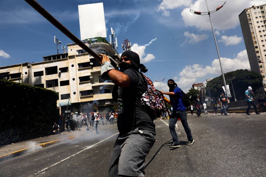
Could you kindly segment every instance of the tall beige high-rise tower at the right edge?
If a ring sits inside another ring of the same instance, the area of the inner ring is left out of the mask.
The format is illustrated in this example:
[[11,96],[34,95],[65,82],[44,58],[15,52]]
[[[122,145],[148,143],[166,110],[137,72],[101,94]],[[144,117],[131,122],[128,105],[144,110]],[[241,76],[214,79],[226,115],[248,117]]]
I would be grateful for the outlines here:
[[[266,91],[266,4],[246,8],[239,14],[239,21],[252,71],[263,76]],[[263,88],[260,90],[263,91]]]

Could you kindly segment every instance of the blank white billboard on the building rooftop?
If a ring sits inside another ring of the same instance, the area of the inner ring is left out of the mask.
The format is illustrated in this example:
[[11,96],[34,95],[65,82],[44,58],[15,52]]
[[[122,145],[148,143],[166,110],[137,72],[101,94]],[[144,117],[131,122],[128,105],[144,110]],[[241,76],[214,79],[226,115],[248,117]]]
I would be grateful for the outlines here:
[[104,19],[104,4],[79,5],[80,39],[103,37],[106,38]]

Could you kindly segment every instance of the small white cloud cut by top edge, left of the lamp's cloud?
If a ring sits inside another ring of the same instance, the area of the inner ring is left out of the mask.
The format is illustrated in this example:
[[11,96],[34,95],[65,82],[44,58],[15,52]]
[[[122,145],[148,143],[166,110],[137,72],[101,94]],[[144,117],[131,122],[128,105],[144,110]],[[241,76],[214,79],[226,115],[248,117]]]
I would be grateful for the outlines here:
[[192,0],[162,0],[157,7],[157,11],[162,11],[163,16],[170,16],[169,9],[175,9],[181,6],[190,5]]

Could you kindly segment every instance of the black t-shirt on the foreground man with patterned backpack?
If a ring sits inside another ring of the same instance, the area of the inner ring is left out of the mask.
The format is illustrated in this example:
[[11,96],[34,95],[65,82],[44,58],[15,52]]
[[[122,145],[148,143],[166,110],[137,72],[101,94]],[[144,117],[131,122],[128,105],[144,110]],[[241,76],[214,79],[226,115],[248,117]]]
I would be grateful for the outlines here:
[[140,73],[133,69],[124,71],[130,79],[130,86],[118,89],[119,115],[117,119],[118,131],[121,135],[135,128],[155,133],[153,114],[145,105],[141,105],[141,95],[146,92],[144,81]]

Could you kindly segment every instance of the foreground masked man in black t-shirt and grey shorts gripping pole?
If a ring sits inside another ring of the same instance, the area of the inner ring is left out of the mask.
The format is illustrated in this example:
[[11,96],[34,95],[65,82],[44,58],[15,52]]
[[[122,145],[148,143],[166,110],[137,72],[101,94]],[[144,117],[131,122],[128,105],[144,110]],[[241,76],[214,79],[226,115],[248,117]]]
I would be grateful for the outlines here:
[[146,88],[139,70],[147,72],[147,68],[133,51],[122,53],[120,71],[106,55],[99,55],[103,58],[101,76],[115,83],[112,96],[119,100],[119,135],[110,157],[109,176],[144,176],[145,158],[155,142],[154,114],[140,102]]

